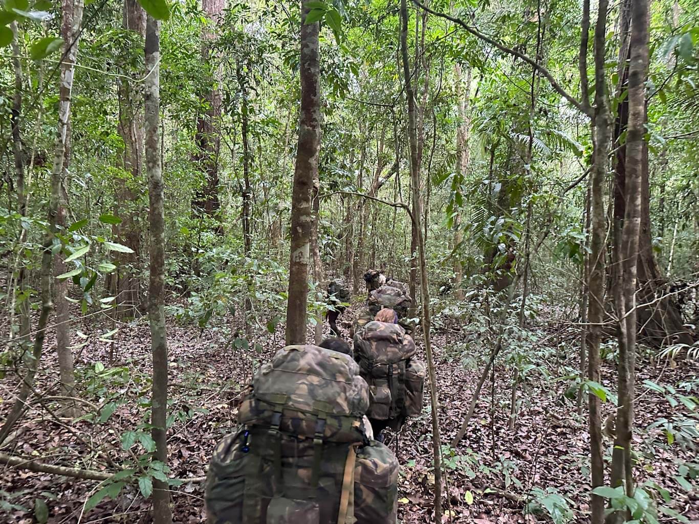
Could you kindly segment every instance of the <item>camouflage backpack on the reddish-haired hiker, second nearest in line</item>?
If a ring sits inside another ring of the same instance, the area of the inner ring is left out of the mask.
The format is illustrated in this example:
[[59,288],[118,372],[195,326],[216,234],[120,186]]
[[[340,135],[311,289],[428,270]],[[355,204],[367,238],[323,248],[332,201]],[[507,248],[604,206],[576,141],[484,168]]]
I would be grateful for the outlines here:
[[415,342],[398,324],[372,321],[354,335],[354,358],[369,384],[370,419],[396,421],[422,411],[425,366],[413,358]]

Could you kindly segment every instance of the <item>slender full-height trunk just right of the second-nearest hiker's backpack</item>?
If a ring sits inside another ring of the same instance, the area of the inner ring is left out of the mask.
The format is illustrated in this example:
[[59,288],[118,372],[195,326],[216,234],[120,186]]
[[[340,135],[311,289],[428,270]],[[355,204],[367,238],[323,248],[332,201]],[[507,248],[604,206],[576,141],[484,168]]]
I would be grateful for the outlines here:
[[442,522],[442,465],[441,465],[441,443],[439,434],[439,405],[437,397],[437,377],[432,356],[431,333],[430,333],[430,294],[427,279],[427,263],[425,254],[424,238],[422,238],[420,208],[420,173],[419,159],[417,151],[417,115],[415,110],[415,92],[412,90],[410,79],[410,62],[408,61],[408,7],[406,0],[401,0],[401,56],[403,57],[403,78],[405,81],[405,98],[408,101],[408,140],[410,143],[410,180],[412,185],[412,229],[417,233],[417,248],[419,251],[420,284],[422,300],[422,332],[425,340],[425,352],[427,356],[427,368],[430,381],[430,400],[432,408],[432,451],[433,466],[435,475],[435,514],[434,522]]

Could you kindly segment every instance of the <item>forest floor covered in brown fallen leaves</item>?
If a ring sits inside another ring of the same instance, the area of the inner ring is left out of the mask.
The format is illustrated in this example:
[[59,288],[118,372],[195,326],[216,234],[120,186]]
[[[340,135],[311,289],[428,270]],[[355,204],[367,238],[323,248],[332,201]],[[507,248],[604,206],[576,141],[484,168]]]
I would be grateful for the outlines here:
[[[340,317],[347,337],[352,311]],[[235,320],[231,321],[235,324]],[[466,436],[456,449],[444,448],[449,504],[445,504],[445,522],[475,524],[505,524],[551,522],[549,514],[559,511],[559,522],[586,521],[589,493],[589,444],[586,419],[577,416],[575,401],[563,397],[570,385],[555,377],[569,374],[576,354],[577,337],[572,328],[557,328],[539,321],[542,333],[549,340],[552,356],[545,369],[539,365],[526,374],[519,392],[521,402],[514,430],[509,430],[512,370],[496,365],[477,403]],[[77,326],[73,326],[77,327]],[[237,326],[229,326],[235,329]],[[150,395],[150,332],[142,319],[122,326],[114,336],[115,344],[99,340],[99,335],[111,330],[110,323],[89,319],[80,331],[83,339],[74,335],[76,344],[87,340],[76,350],[76,369],[82,380],[82,398],[104,405],[112,400],[127,400],[115,409],[108,422],[97,426],[86,420],[66,421],[50,415],[41,405],[34,408],[11,437],[10,446],[1,451],[20,453],[55,463],[84,469],[98,469],[96,450],[103,449],[119,463],[128,458],[120,446],[123,432],[134,430],[138,423],[147,422]],[[231,330],[232,330],[231,329]],[[260,326],[264,330],[264,326]],[[327,326],[325,331],[327,332]],[[309,330],[311,331],[311,330]],[[442,445],[447,446],[461,425],[471,394],[487,358],[485,350],[473,349],[473,355],[454,350],[463,339],[459,326],[446,327],[436,333],[433,344],[437,363],[438,391]],[[327,334],[327,333],[326,333]],[[312,333],[309,333],[312,336]],[[171,476],[181,479],[206,475],[208,460],[216,442],[235,425],[233,401],[250,381],[253,368],[264,363],[282,346],[283,326],[275,333],[264,330],[261,351],[242,349],[225,340],[220,333],[199,330],[195,326],[168,326],[170,351],[171,411],[179,418],[168,431],[168,463]],[[567,355],[557,355],[557,344],[568,342]],[[423,352],[417,337],[419,352]],[[58,374],[55,337],[50,333],[47,350],[41,363],[41,375],[36,388],[55,388]],[[542,348],[538,348],[542,349]],[[110,352],[113,360],[110,361]],[[423,360],[424,354],[421,355]],[[465,362],[468,365],[465,365]],[[102,370],[101,364],[105,366]],[[469,364],[470,363],[470,364]],[[477,365],[474,365],[477,364]],[[637,384],[642,392],[637,401],[637,425],[645,428],[652,421],[669,414],[682,414],[683,405],[671,407],[663,394],[641,386],[646,379],[661,385],[677,386],[688,377],[696,377],[699,365],[679,361],[676,366],[666,361],[639,361]],[[95,372],[97,370],[97,372]],[[605,363],[603,383],[612,385],[613,367]],[[52,386],[53,385],[53,386]],[[16,379],[8,375],[0,382],[0,419],[8,412]],[[693,395],[697,394],[696,382]],[[398,437],[391,435],[389,446],[397,452],[401,463],[398,486],[399,520],[405,524],[426,523],[433,511],[434,476],[431,471],[431,424],[426,409],[418,419],[410,419]],[[611,404],[607,402],[607,413]],[[50,407],[50,405],[48,406]],[[200,411],[201,410],[201,411]],[[644,437],[649,438],[648,435]],[[658,439],[665,439],[662,429]],[[635,444],[642,448],[640,436]],[[610,453],[611,442],[607,444]],[[641,481],[653,480],[668,489],[670,505],[691,522],[699,521],[699,500],[696,493],[688,494],[675,481],[677,459],[690,460],[679,443],[670,451],[656,451],[651,460],[640,456],[636,468]],[[33,520],[35,500],[44,500],[49,508],[49,523],[147,523],[150,503],[138,488],[127,486],[116,500],[103,500],[92,511],[84,512],[85,501],[99,490],[98,481],[83,481],[44,473],[29,472],[6,465],[0,466],[0,521],[29,524]],[[563,497],[563,498],[561,498]],[[184,482],[173,488],[175,523],[203,523],[203,483]],[[563,502],[561,502],[561,500]],[[8,509],[9,504],[14,504]],[[565,518],[565,507],[575,516]],[[549,507],[549,512],[540,508]],[[554,515],[556,516],[556,515]],[[670,522],[670,519],[661,519]]]

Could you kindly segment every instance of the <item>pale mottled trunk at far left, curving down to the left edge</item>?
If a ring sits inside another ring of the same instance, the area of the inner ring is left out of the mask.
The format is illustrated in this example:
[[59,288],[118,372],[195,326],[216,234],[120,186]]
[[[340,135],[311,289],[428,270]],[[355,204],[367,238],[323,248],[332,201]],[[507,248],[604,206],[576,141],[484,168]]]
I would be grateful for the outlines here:
[[78,36],[82,23],[82,0],[64,0],[62,3],[63,20],[69,24],[70,36],[63,45],[63,60],[60,64],[61,77],[59,80],[58,98],[58,133],[54,148],[53,165],[51,169],[51,191],[48,205],[48,230],[44,235],[43,253],[41,254],[41,313],[39,314],[36,338],[31,359],[27,363],[27,372],[24,374],[20,393],[17,395],[7,419],[0,428],[0,444],[10,434],[13,426],[20,419],[26,406],[27,398],[34,386],[36,370],[41,362],[43,342],[46,336],[48,317],[53,309],[51,302],[51,268],[52,246],[56,235],[56,224],[61,191],[61,175],[63,172],[66,139],[71,118],[71,91],[73,89],[73,73],[75,71],[75,57],[78,54]]

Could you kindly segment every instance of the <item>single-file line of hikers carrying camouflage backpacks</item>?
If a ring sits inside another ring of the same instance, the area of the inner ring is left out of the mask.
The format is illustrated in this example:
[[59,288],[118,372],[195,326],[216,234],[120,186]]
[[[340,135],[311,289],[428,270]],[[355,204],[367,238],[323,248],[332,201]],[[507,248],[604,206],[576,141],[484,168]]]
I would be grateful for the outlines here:
[[395,524],[398,460],[383,443],[419,416],[425,366],[415,358],[405,284],[371,270],[366,307],[337,319],[349,291],[328,286],[335,337],[280,349],[238,405],[238,427],[217,444],[206,483],[210,524]]

